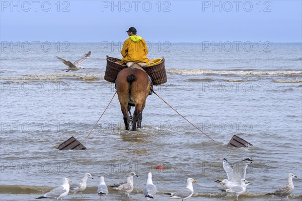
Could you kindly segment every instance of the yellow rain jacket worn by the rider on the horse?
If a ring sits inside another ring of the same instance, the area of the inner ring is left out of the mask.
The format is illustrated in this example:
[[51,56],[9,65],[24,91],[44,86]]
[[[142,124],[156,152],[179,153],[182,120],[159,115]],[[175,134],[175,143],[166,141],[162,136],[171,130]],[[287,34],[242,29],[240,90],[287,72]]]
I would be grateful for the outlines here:
[[125,63],[130,61],[145,63],[149,60],[146,56],[148,54],[146,42],[136,35],[125,40],[121,54]]

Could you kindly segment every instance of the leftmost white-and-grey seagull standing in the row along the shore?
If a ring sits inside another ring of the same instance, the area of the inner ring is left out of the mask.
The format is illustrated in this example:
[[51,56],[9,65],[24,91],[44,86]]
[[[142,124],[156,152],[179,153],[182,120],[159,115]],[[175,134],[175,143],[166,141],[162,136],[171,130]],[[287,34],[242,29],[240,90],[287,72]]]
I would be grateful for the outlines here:
[[36,199],[56,198],[57,200],[63,200],[63,197],[65,197],[69,192],[68,182],[71,182],[71,180],[69,180],[68,178],[63,178],[63,184],[61,186],[52,189],[50,192],[47,192],[43,196],[37,197]]

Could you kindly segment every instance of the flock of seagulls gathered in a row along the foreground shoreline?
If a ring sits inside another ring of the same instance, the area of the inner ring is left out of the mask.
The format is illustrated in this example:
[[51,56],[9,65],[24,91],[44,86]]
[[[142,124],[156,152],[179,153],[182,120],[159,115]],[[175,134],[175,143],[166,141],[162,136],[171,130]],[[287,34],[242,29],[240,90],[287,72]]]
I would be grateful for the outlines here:
[[[243,194],[246,191],[246,186],[248,186],[250,184],[250,182],[247,181],[245,179],[245,177],[246,177],[247,167],[249,164],[252,163],[252,161],[253,161],[252,158],[247,158],[247,159],[240,161],[239,163],[236,163],[232,167],[229,164],[228,160],[223,158],[223,161],[222,161],[223,169],[226,172],[228,179],[223,179],[222,181],[214,180],[215,182],[219,183],[224,188],[224,189],[219,189],[219,190],[224,191],[231,195],[236,195],[237,200],[238,200],[238,196]],[[132,190],[133,190],[133,177],[134,176],[138,177],[138,175],[136,175],[134,172],[131,172],[129,174],[129,177],[127,177],[127,181],[120,182],[117,184],[114,183],[109,186],[115,190],[120,190],[120,191],[124,192],[130,198],[129,193],[132,192]],[[54,188],[50,192],[45,193],[43,196],[37,197],[37,199],[39,199],[39,198],[55,198],[57,200],[58,199],[62,200],[62,198],[65,197],[69,193],[69,190],[73,193],[80,192],[81,195],[83,196],[82,192],[87,187],[87,179],[89,177],[91,177],[93,179],[93,177],[91,176],[90,173],[86,173],[85,176],[83,177],[83,179],[79,183],[75,183],[75,184],[71,184],[71,185],[69,185],[69,182],[71,182],[71,180],[69,180],[68,178],[63,178],[63,184],[61,186]],[[281,197],[281,200],[286,197],[288,200],[288,195],[293,191],[293,188],[294,188],[293,183],[292,183],[292,178],[296,178],[296,176],[293,175],[292,173],[289,173],[288,178],[287,178],[287,183],[285,185],[279,187],[274,192],[267,193],[267,194],[279,196],[279,197]],[[170,198],[179,198],[179,199],[182,199],[182,201],[184,201],[184,200],[190,198],[194,193],[193,184],[192,184],[193,182],[196,182],[196,180],[192,179],[192,178],[188,178],[187,186],[185,188],[183,188],[177,192],[164,193],[164,194],[170,195]],[[103,176],[101,176],[100,184],[98,185],[97,194],[100,196],[105,196],[105,200],[106,200],[106,196],[107,196],[108,192],[109,191],[108,191],[108,187],[105,183],[105,179]],[[157,187],[156,187],[156,185],[153,184],[152,173],[149,172],[148,178],[147,178],[147,183],[146,183],[145,187],[143,188],[143,194],[149,200],[150,198],[154,198],[154,195],[156,193],[157,193]]]

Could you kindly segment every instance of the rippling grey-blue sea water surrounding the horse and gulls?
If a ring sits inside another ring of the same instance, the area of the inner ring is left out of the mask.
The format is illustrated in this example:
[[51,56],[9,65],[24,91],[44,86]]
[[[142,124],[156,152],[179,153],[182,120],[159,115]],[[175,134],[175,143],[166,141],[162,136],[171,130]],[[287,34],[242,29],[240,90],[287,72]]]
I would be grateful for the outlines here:
[[[125,131],[117,97],[95,125],[115,93],[104,80],[106,55],[121,58],[120,46],[70,43],[58,48],[3,48],[1,52],[1,200],[34,200],[68,177],[87,189],[66,200],[99,200],[99,177],[107,185],[136,172],[130,200],[144,200],[142,188],[151,170],[155,200],[186,186],[190,200],[234,200],[213,182],[226,178],[219,158],[235,164],[253,158],[240,200],[279,200],[273,192],[293,173],[290,200],[302,197],[301,43],[208,44],[148,43],[149,58],[165,58],[168,82],[148,96],[142,128]],[[55,56],[75,61],[84,53],[84,70],[62,71]],[[133,109],[132,109],[133,110]],[[237,135],[249,148],[226,148]],[[87,150],[54,147],[75,137]],[[164,170],[155,169],[163,165]],[[128,200],[109,189],[107,200]]]

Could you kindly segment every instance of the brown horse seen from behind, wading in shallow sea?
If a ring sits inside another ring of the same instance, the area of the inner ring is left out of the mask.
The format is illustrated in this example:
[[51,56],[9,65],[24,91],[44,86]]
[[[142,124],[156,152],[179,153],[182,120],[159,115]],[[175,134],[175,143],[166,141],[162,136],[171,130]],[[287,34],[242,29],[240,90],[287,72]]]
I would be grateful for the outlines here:
[[[121,70],[116,78],[116,91],[121,110],[124,116],[126,130],[129,130],[129,116],[131,107],[134,104],[135,109],[132,117],[132,131],[141,127],[142,110],[145,107],[146,98],[150,92],[150,81],[148,75],[140,69],[125,68]],[[130,112],[131,115],[131,112]]]

